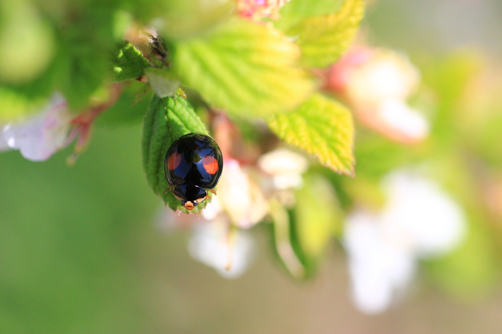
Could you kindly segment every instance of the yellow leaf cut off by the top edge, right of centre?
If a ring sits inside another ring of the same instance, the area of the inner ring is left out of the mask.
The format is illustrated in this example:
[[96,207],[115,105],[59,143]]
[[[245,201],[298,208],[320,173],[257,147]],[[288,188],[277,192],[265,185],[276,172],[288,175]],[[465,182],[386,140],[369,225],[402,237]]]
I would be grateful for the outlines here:
[[298,36],[303,64],[325,67],[349,48],[363,14],[364,0],[347,0],[338,13],[304,19],[287,34]]

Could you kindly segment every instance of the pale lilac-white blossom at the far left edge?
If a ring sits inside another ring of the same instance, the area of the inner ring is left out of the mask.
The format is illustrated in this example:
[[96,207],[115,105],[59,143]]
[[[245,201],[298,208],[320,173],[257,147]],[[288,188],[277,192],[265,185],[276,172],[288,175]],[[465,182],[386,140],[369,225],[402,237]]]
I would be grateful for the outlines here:
[[23,121],[7,124],[3,138],[9,147],[19,149],[27,159],[47,160],[68,145],[72,118],[64,98],[55,93],[42,111]]

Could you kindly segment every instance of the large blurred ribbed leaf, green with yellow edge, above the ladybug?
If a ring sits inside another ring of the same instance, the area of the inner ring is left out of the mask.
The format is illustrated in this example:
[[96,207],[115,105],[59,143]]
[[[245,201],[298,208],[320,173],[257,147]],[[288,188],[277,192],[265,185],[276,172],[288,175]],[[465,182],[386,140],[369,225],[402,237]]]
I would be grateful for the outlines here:
[[312,82],[295,64],[298,47],[265,25],[226,22],[203,38],[175,46],[182,83],[228,112],[268,116],[301,103]]

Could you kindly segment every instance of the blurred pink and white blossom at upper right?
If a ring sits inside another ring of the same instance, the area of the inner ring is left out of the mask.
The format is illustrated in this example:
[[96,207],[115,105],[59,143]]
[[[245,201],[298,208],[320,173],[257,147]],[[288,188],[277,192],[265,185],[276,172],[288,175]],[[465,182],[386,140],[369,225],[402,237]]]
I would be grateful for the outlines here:
[[327,88],[342,94],[366,126],[402,142],[429,134],[429,121],[407,99],[420,83],[418,69],[403,54],[356,48],[327,73]]

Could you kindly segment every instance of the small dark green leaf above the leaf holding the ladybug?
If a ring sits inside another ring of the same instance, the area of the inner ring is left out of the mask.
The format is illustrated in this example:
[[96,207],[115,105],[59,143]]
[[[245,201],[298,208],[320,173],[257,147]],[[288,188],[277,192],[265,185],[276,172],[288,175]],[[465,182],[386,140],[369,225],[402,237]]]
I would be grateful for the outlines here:
[[111,72],[113,81],[137,79],[145,74],[150,62],[132,43],[121,42],[113,53]]

